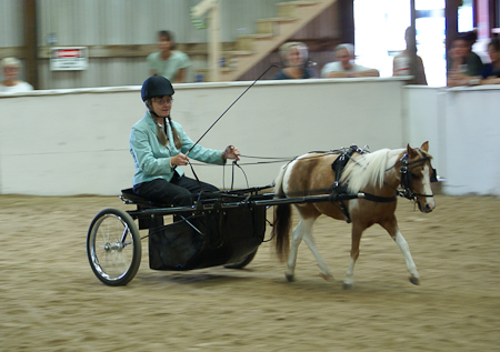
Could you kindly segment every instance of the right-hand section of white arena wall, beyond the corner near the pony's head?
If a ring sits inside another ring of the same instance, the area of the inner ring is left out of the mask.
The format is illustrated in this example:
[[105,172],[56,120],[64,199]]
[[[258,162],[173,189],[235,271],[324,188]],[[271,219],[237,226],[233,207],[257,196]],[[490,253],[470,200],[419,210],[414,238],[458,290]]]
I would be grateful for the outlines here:
[[449,195],[500,195],[500,87],[404,88],[409,141],[428,135]]

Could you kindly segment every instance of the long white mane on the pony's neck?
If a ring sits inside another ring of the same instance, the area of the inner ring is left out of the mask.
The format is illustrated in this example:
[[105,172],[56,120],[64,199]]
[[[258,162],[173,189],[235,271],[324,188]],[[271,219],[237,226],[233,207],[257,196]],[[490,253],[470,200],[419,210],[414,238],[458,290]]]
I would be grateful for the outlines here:
[[396,164],[397,157],[404,149],[380,149],[372,153],[354,154],[342,171],[340,182],[347,184],[348,192],[358,193],[367,185],[381,188],[386,179],[386,172]]

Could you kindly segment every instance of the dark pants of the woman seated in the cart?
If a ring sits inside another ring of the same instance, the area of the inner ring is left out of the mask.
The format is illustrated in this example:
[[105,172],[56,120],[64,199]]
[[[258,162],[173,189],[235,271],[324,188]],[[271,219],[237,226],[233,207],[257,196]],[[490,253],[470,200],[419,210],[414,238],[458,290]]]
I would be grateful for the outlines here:
[[201,191],[219,192],[219,189],[209,183],[198,183],[197,180],[177,174],[170,182],[163,179],[156,179],[133,187],[136,194],[153,202],[171,204],[173,207],[192,205],[193,200],[199,197]]

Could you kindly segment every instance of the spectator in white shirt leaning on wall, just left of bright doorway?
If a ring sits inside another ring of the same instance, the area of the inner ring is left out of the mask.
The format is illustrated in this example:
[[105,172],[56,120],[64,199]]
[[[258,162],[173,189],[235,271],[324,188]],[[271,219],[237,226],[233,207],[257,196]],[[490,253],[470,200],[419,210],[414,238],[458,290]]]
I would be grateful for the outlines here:
[[376,69],[354,63],[354,46],[346,43],[337,46],[336,62],[323,66],[322,78],[380,77]]

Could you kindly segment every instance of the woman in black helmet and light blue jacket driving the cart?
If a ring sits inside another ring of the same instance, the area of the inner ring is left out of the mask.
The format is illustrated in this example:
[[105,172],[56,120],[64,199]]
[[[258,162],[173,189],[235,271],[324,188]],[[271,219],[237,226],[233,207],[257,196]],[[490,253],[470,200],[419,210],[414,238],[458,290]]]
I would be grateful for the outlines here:
[[233,145],[222,151],[194,144],[170,117],[173,93],[172,84],[162,76],[154,74],[142,84],[141,98],[148,111],[130,134],[136,167],[132,190],[150,201],[189,207],[193,194],[219,189],[184,175],[179,167],[188,164],[188,152],[189,158],[220,165],[228,159],[239,160],[240,152]]

